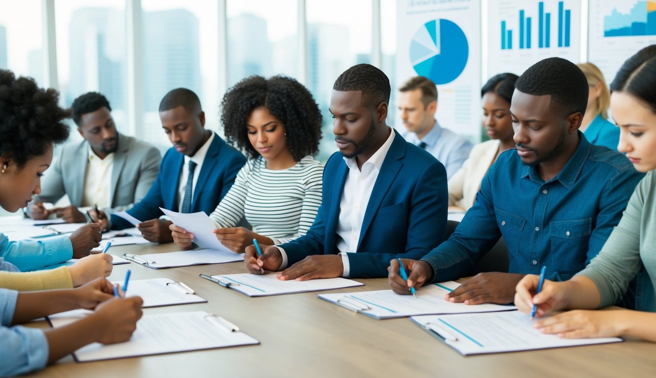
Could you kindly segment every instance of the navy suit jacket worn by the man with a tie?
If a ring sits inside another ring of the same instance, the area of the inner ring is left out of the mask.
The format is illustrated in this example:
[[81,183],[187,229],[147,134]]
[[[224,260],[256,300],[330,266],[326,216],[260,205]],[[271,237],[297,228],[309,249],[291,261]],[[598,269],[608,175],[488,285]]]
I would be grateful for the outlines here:
[[[246,158],[241,152],[228,146],[215,133],[194,187],[191,212],[205,211],[207,215],[211,214],[223,196],[228,193],[237,177],[237,172],[245,163]],[[159,165],[159,175],[146,197],[127,212],[139,221],[149,221],[163,215],[159,207],[178,211],[178,184],[182,164],[184,164],[184,155],[170,148]],[[132,227],[130,222],[121,217],[113,214],[111,217],[113,230]]]

